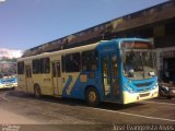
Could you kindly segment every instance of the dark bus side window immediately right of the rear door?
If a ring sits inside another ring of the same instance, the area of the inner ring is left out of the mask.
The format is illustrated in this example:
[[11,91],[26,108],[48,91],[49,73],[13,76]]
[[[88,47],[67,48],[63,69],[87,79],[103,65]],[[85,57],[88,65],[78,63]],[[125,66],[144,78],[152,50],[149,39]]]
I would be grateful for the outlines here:
[[33,60],[32,66],[33,66],[33,74],[40,73],[40,60],[39,59]]

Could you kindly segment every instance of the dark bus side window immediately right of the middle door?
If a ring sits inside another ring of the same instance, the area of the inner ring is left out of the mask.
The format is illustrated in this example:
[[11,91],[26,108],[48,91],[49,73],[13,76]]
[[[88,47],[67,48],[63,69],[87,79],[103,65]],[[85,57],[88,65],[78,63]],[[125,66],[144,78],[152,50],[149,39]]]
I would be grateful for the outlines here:
[[80,53],[70,53],[65,56],[66,72],[80,71]]

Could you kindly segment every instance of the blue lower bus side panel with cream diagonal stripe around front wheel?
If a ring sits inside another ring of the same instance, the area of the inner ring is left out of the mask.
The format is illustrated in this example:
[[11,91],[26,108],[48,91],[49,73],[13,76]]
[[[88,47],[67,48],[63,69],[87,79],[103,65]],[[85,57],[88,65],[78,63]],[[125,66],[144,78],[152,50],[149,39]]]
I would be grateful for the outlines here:
[[[90,75],[94,75],[91,78]],[[85,88],[86,87],[95,87],[101,99],[102,99],[102,91],[100,85],[100,79],[94,73],[74,73],[72,75],[66,76],[66,83],[63,84],[63,93],[62,97],[71,97],[71,98],[80,98],[85,99]]]

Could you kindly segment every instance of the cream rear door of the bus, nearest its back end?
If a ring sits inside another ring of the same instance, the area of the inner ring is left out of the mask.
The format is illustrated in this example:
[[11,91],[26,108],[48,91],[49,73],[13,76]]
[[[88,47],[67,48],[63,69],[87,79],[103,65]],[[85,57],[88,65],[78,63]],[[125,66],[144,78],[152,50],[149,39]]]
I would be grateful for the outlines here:
[[33,92],[33,80],[32,80],[32,70],[31,66],[25,66],[25,82],[26,82],[26,91]]

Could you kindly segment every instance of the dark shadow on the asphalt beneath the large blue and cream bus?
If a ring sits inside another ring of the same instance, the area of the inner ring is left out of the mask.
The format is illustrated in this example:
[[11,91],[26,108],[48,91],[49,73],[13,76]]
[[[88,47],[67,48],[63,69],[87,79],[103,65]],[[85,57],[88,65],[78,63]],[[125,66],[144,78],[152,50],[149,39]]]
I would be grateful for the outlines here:
[[[70,106],[88,107],[88,104],[85,100],[74,99],[74,98],[58,98],[58,97],[52,97],[52,96],[42,96],[40,98],[36,98],[33,94],[19,92],[19,91],[9,91],[9,93],[7,95],[20,97],[20,98],[24,98],[24,99],[34,99],[34,100],[42,100],[42,102],[49,102],[49,103],[58,103],[58,104],[70,105]],[[120,109],[127,109],[130,107],[142,106],[142,105],[144,105],[144,104],[135,103],[135,104],[121,105],[121,104],[117,104],[117,103],[107,103],[107,102],[104,103],[103,102],[98,105],[97,108],[120,110]]]

